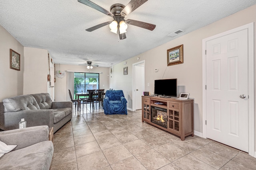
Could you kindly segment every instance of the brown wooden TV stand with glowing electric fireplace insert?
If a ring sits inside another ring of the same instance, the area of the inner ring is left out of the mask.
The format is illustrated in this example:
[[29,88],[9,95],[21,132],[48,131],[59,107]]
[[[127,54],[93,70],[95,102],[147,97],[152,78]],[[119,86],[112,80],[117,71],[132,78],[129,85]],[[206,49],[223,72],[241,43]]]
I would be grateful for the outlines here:
[[[194,136],[194,100],[142,96],[142,122],[180,137]],[[159,116],[158,116],[159,115]],[[161,117],[162,115],[162,117]],[[159,121],[158,117],[163,118]],[[157,118],[157,119],[156,119]]]

